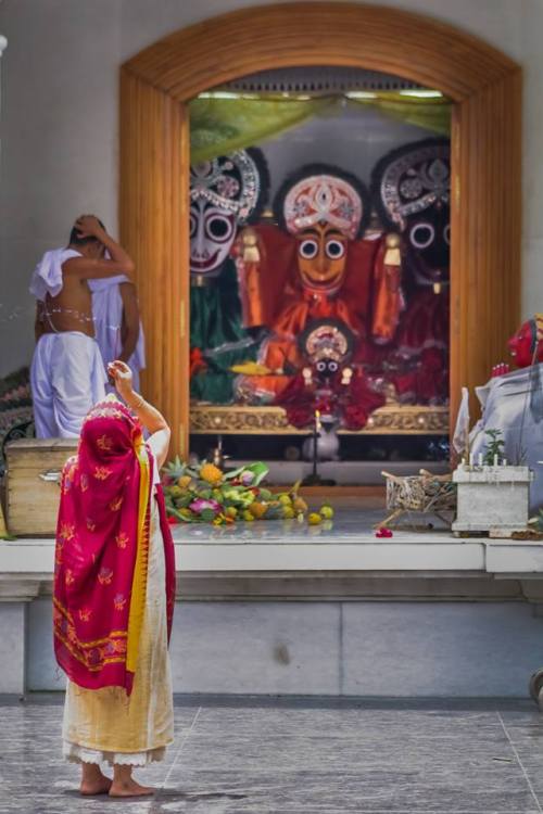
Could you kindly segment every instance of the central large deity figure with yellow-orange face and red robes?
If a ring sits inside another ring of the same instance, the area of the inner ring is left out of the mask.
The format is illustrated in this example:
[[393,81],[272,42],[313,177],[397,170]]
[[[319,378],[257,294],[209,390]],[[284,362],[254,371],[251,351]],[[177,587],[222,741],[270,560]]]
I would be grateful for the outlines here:
[[400,253],[390,251],[390,236],[363,238],[370,202],[355,176],[326,164],[302,167],[279,189],[274,215],[277,226],[256,230],[261,311],[270,335],[258,374],[238,383],[252,403],[274,400],[301,369],[296,340],[311,321],[344,325],[362,365],[371,343],[392,339],[402,307]]

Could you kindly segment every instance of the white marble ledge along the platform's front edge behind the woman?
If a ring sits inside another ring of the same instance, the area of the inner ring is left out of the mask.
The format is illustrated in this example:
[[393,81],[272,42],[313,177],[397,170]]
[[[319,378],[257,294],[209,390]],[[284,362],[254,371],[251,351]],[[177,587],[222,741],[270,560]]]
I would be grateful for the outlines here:
[[[445,542],[446,540],[446,542]],[[50,596],[52,539],[0,544],[0,602]],[[543,601],[543,546],[437,543],[176,545],[181,600]]]

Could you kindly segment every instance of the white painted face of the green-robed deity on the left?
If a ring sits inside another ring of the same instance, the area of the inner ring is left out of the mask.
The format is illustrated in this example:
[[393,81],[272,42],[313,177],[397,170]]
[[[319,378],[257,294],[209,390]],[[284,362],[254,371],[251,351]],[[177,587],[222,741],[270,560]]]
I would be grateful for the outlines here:
[[198,200],[190,205],[190,271],[218,274],[236,238],[237,216]]

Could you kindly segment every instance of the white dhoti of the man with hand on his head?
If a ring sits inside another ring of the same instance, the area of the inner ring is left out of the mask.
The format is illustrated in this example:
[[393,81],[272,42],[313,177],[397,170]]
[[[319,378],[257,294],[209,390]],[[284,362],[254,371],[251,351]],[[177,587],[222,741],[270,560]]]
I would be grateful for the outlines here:
[[78,437],[87,412],[105,397],[106,380],[90,336],[79,331],[40,336],[30,368],[36,436]]

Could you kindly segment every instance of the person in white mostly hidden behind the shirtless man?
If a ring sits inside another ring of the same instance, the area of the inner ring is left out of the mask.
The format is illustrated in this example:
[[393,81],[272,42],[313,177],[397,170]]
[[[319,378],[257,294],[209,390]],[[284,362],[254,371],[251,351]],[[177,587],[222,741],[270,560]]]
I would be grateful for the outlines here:
[[[136,285],[126,275],[89,280],[92,293],[94,336],[105,367],[125,361],[132,371],[134,389],[140,389],[146,367],[146,344]],[[113,387],[111,387],[113,390]]]

